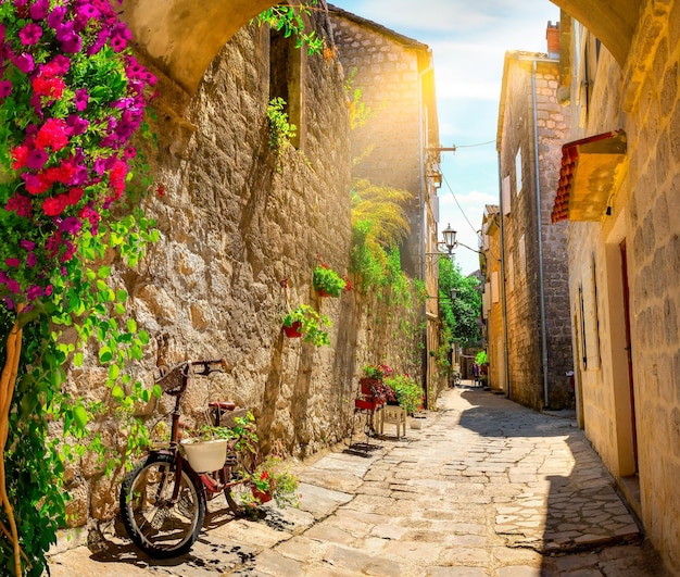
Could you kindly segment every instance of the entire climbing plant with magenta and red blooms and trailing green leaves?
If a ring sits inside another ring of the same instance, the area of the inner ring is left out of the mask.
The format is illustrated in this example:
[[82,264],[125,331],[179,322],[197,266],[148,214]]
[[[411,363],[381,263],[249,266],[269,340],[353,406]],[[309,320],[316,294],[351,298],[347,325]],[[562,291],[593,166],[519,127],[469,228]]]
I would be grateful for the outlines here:
[[[83,363],[81,349],[97,337],[111,398],[130,416],[128,444],[143,442],[137,401],[160,394],[123,375],[149,336],[134,318],[113,317],[126,314],[127,293],[109,286],[111,267],[100,260],[117,252],[134,266],[158,238],[139,197],[124,197],[140,163],[131,139],[155,83],[130,38],[106,0],[0,0],[0,492],[7,487],[14,501],[12,511],[3,499],[0,511],[0,556],[14,555],[14,575],[22,559],[30,575],[43,572],[65,523],[64,462],[83,456],[77,439],[102,413],[101,403],[62,390],[66,363]],[[75,344],[61,341],[60,325],[76,329]],[[62,439],[48,438],[54,422]],[[64,443],[66,436],[76,440]],[[88,447],[103,451],[98,437]],[[116,461],[104,464],[112,471]]]

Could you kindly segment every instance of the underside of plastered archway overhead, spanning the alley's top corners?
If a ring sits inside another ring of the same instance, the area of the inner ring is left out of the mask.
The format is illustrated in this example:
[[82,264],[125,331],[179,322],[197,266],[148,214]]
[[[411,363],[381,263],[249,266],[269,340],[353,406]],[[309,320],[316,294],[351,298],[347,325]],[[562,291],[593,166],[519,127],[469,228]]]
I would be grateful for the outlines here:
[[[641,7],[652,0],[552,1],[600,38],[622,67]],[[158,67],[192,95],[219,49],[274,4],[272,0],[125,0],[123,17]]]

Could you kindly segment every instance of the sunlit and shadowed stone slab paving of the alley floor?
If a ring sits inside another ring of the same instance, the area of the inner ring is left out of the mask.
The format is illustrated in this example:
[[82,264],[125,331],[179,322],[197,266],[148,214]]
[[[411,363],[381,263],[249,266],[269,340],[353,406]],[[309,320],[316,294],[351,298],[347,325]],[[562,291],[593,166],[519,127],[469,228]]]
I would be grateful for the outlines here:
[[191,552],[150,560],[102,531],[56,552],[53,577],[658,577],[597,455],[570,418],[481,389],[445,391],[405,439],[295,466],[301,506],[234,519],[217,502]]

